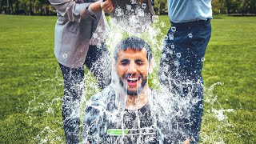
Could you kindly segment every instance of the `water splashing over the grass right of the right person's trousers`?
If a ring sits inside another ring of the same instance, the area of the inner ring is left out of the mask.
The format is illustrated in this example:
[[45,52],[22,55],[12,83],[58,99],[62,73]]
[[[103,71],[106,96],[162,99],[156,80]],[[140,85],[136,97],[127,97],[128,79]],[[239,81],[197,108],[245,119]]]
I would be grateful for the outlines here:
[[[214,86],[222,85],[223,84],[221,82],[216,82],[210,87],[204,88],[204,105],[207,106],[208,109],[205,110],[202,121],[202,143],[225,143],[224,138],[226,138],[227,133],[230,133],[230,128],[233,127],[226,114],[234,113],[234,109],[223,109],[221,103],[218,102],[218,95],[214,94]],[[205,131],[209,131],[207,128],[211,126],[214,126],[214,130],[207,134]]]

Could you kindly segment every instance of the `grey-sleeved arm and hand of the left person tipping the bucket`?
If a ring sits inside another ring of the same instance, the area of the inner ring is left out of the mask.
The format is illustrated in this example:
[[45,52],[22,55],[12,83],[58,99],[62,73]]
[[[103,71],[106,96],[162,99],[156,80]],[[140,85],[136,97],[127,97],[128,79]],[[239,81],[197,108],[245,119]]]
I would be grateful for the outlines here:
[[93,3],[81,3],[76,2],[74,0],[49,0],[49,2],[58,11],[58,14],[69,19],[71,22],[80,22],[81,18],[91,18],[90,14],[88,13],[88,8],[90,5],[92,5],[90,6],[90,10],[92,10],[95,13],[101,11],[102,9],[104,11],[110,11],[111,6],[112,10],[114,9],[111,0],[106,0],[106,2],[102,2],[102,0],[100,0],[98,2]]

